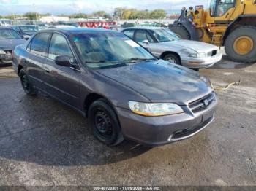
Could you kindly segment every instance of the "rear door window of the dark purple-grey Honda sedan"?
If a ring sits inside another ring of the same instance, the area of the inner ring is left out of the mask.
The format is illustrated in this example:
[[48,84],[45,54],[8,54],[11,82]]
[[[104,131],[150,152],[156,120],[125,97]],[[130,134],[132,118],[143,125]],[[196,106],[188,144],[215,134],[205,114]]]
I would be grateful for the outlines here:
[[34,36],[31,42],[31,52],[47,57],[47,45],[50,34],[40,33]]

